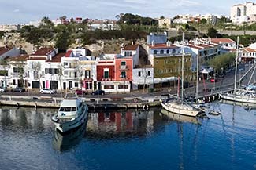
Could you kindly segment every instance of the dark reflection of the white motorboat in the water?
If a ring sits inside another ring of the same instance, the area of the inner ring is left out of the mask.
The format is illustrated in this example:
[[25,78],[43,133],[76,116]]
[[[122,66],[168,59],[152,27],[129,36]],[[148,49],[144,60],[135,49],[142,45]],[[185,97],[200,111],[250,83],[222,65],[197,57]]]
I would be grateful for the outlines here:
[[61,133],[55,128],[53,145],[55,150],[69,150],[80,143],[86,131],[87,121],[69,132]]

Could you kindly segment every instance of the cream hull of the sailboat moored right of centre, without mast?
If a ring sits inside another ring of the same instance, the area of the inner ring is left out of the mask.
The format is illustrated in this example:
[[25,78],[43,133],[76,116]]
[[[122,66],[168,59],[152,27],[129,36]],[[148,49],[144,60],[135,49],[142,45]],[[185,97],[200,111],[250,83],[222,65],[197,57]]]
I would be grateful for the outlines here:
[[178,103],[161,103],[161,106],[165,110],[173,112],[174,114],[195,117],[200,113],[200,110],[196,110],[195,108],[186,105],[180,105]]

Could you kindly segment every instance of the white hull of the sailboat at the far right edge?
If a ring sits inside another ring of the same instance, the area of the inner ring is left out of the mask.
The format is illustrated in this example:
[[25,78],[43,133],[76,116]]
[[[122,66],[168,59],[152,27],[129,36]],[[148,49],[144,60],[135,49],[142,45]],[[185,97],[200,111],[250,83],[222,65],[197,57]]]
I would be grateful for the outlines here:
[[241,96],[234,94],[220,94],[221,99],[227,99],[234,102],[240,103],[256,103],[256,98],[250,96]]

